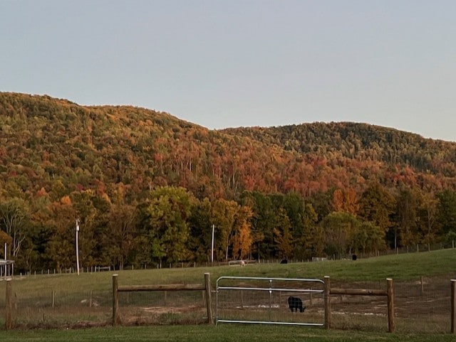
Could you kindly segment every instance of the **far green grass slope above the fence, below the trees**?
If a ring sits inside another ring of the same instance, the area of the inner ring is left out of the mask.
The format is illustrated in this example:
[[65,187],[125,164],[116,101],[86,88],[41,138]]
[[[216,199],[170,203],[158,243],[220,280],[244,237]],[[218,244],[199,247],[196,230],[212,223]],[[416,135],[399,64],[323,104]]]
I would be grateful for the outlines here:
[[[371,257],[368,259],[298,262],[291,264],[257,263],[246,267],[195,267],[172,269],[125,270],[98,273],[51,274],[23,276],[14,279],[14,287],[28,296],[39,296],[49,289],[71,289],[73,294],[110,292],[112,275],[119,274],[120,285],[132,284],[197,284],[204,282],[204,272],[211,274],[212,284],[221,276],[317,278],[330,276],[338,282],[378,282],[387,277],[410,281],[420,276],[456,277],[456,249]],[[5,282],[0,282],[0,293]],[[0,296],[1,298],[1,296]]]

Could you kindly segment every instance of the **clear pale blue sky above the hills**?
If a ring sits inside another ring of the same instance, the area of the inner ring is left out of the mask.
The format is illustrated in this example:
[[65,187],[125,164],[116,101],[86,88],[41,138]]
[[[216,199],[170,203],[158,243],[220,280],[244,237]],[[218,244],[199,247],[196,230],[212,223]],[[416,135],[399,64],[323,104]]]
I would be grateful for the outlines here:
[[0,0],[0,91],[456,141],[454,0]]

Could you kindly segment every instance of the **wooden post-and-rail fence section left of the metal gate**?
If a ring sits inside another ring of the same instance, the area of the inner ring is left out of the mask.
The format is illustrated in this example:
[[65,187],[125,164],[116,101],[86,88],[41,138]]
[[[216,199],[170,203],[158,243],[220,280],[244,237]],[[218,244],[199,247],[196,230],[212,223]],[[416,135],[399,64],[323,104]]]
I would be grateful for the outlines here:
[[206,296],[207,323],[212,324],[211,281],[209,273],[204,273],[204,284],[165,284],[119,286],[118,274],[113,274],[113,326],[120,323],[119,292],[147,291],[204,291]]

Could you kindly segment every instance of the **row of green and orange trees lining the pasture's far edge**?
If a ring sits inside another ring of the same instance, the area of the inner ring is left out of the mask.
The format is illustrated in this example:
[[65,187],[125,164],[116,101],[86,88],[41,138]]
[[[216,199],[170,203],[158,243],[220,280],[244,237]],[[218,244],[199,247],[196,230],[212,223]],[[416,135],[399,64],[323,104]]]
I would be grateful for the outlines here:
[[0,203],[0,242],[19,271],[73,267],[76,218],[81,267],[120,269],[210,262],[212,225],[215,261],[375,255],[456,237],[456,192],[448,190],[390,193],[373,183],[359,198],[337,189],[311,198],[245,191],[237,201],[210,201],[163,186],[136,205],[125,202],[123,186],[112,201],[91,190],[62,198],[55,191]]

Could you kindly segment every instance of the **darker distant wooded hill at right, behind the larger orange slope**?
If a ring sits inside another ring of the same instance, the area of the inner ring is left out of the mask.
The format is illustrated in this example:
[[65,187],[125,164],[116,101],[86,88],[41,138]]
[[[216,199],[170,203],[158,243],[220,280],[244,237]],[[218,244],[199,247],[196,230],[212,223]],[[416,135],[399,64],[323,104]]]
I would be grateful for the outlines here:
[[417,171],[456,176],[456,145],[418,134],[354,122],[314,122],[283,127],[242,127],[223,132],[276,144],[301,154],[407,165]]

